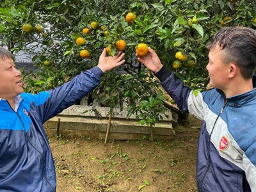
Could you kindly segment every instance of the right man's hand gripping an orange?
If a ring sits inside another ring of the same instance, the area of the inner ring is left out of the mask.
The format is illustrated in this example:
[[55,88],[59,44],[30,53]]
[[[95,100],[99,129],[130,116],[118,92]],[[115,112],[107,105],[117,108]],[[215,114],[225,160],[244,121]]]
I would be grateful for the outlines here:
[[143,63],[143,65],[154,73],[158,72],[163,67],[156,52],[150,47],[148,47],[148,54],[146,56],[139,57],[138,54],[136,54],[136,56],[138,57],[138,61]]

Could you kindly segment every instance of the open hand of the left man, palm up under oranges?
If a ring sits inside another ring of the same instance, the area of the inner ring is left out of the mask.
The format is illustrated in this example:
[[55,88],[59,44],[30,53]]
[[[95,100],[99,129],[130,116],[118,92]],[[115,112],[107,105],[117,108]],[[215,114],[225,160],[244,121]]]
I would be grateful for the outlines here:
[[124,57],[124,52],[122,53],[119,51],[115,56],[108,57],[106,57],[106,52],[106,49],[104,49],[99,58],[98,67],[102,70],[102,72],[107,72],[108,70],[111,70],[112,68],[120,66],[124,63],[125,60],[122,60]]

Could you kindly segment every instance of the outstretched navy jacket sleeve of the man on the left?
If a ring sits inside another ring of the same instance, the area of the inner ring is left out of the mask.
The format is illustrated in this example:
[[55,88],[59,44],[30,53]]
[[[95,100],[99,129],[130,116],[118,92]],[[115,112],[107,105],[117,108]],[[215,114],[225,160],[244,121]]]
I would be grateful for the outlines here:
[[35,103],[38,104],[38,113],[40,113],[42,122],[44,123],[49,118],[58,115],[64,109],[75,104],[77,100],[92,92],[99,85],[102,74],[103,72],[99,67],[94,67],[86,72],[81,72],[72,81],[49,90],[49,92],[39,93],[35,100],[40,101],[37,100]]

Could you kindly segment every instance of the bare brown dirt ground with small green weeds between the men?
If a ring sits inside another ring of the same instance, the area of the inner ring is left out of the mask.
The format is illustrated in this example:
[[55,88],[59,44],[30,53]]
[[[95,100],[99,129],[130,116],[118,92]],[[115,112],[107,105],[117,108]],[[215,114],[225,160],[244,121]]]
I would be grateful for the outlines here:
[[200,121],[175,128],[175,140],[118,141],[49,138],[57,191],[197,191],[196,150]]

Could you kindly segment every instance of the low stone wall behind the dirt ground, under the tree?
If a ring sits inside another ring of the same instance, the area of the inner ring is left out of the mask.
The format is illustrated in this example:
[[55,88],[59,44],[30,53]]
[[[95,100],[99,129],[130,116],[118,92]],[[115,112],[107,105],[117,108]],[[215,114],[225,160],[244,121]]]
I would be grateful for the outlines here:
[[[95,108],[99,114],[95,115],[91,106],[74,105],[62,113],[45,122],[47,135],[55,136],[57,132],[68,136],[85,136],[102,139],[106,136],[108,127],[108,111],[110,108]],[[84,113],[84,111],[88,111]],[[150,138],[150,127],[138,124],[135,115],[126,118],[127,111],[114,109],[109,129],[108,139],[116,140],[141,140],[143,136]],[[163,120],[153,127],[154,140],[172,139],[175,136],[173,126],[177,125],[177,116],[168,111]],[[58,128],[59,127],[59,128]]]

